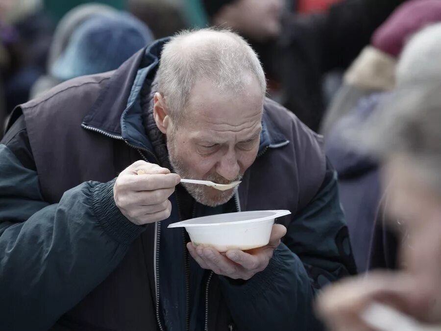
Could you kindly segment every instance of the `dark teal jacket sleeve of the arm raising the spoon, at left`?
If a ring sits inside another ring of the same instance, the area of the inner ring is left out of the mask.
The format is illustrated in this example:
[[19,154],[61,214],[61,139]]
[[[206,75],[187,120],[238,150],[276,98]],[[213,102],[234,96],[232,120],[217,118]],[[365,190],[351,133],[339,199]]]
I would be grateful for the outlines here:
[[0,143],[0,330],[47,330],[103,281],[143,230],[85,182],[58,204],[40,193],[24,120]]

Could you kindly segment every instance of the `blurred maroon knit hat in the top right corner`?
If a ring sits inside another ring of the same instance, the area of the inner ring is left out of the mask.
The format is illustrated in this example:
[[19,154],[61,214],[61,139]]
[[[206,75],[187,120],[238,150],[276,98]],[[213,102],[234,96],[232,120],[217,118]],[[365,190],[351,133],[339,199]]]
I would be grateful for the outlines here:
[[371,44],[378,50],[397,57],[412,34],[439,21],[440,0],[406,1],[375,31]]

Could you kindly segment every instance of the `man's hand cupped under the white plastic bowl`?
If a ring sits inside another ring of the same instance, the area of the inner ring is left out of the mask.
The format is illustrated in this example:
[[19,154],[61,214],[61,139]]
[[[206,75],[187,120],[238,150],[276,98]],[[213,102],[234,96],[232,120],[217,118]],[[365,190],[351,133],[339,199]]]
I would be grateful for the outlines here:
[[187,244],[187,248],[196,262],[204,269],[210,269],[218,275],[231,279],[249,280],[255,274],[263,271],[270,262],[274,250],[279,246],[280,239],[286,234],[283,225],[273,225],[270,243],[248,252],[230,250],[222,255],[211,247],[193,246]]

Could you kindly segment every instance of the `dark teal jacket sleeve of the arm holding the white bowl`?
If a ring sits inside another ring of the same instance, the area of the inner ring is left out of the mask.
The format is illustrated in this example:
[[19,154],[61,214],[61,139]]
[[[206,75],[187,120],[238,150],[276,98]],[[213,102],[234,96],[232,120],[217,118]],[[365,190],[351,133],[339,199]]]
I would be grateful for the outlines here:
[[268,267],[244,284],[221,277],[238,330],[321,330],[313,312],[315,293],[355,273],[337,178],[328,168],[321,190],[295,216]]

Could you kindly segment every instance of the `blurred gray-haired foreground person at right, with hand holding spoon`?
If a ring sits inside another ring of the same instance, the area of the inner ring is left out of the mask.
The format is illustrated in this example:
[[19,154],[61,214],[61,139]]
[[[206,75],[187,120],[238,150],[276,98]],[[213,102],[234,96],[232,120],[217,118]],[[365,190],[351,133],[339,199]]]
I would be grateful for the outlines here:
[[361,318],[374,302],[420,322],[441,322],[440,88],[438,77],[400,87],[370,126],[365,141],[384,165],[387,213],[402,236],[403,269],[373,272],[325,289],[318,309],[330,330],[375,330]]

